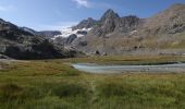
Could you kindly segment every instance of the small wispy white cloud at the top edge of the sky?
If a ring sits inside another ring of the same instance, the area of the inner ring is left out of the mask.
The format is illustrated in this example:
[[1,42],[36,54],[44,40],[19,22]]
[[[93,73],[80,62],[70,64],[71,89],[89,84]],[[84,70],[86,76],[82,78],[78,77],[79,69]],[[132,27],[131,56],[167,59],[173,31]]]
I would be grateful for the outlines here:
[[91,4],[88,0],[73,0],[76,2],[77,7],[85,7],[85,8],[91,8]]

